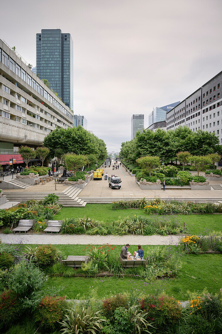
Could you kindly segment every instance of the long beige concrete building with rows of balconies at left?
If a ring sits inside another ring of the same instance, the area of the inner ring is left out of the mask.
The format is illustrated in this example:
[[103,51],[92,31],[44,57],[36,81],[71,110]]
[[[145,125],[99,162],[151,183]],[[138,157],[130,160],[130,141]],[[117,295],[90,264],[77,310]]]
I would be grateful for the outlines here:
[[0,150],[40,146],[56,128],[72,127],[73,112],[0,39]]

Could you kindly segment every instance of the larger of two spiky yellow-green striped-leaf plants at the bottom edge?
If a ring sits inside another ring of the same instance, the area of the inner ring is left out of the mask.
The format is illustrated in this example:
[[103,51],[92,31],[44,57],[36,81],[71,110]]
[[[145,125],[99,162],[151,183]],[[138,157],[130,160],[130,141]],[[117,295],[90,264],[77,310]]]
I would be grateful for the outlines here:
[[68,310],[65,319],[60,323],[62,325],[61,332],[63,334],[100,333],[105,322],[106,320],[101,319],[99,312],[92,310],[90,306],[86,307],[83,304],[78,311],[74,303],[73,308]]

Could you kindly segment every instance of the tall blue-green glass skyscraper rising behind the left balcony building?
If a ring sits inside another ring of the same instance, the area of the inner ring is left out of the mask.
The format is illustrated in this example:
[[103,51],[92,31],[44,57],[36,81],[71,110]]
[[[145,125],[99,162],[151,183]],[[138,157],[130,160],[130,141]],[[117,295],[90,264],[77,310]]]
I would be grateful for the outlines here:
[[73,41],[60,29],[42,29],[36,34],[36,73],[73,110]]

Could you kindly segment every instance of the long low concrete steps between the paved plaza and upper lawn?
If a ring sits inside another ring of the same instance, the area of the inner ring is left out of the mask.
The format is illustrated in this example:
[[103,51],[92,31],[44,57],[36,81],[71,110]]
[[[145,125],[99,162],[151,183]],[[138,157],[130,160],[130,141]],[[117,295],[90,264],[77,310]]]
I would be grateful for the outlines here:
[[[222,187],[221,187],[222,188]],[[86,203],[97,203],[97,204],[109,204],[112,202],[131,201],[136,199],[141,199],[143,197],[80,197]],[[146,197],[147,200],[154,199],[154,197]],[[194,203],[206,203],[206,202],[221,202],[221,198],[191,198],[191,197],[162,197],[161,200],[172,201],[176,200],[179,202],[194,202]]]

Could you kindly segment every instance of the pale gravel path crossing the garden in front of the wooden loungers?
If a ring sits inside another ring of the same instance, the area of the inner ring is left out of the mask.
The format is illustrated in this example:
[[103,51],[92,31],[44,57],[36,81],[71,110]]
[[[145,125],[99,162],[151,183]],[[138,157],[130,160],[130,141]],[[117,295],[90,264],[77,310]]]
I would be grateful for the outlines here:
[[173,245],[178,244],[179,236],[161,236],[161,235],[87,235],[87,234],[3,234],[0,233],[0,240],[7,243],[31,243],[31,244],[103,244],[110,243],[123,245],[126,243],[136,245],[161,245],[163,243]]

